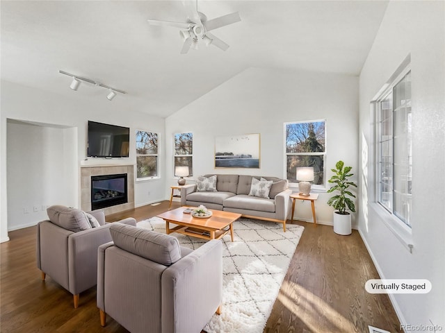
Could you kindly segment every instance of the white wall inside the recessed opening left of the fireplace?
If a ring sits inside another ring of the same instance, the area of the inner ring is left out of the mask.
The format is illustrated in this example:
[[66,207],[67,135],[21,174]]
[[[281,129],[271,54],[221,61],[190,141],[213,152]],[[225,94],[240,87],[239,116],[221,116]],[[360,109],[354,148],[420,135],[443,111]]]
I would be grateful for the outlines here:
[[48,205],[76,203],[72,189],[77,180],[72,169],[77,163],[72,142],[77,135],[70,132],[68,128],[8,121],[8,230],[46,219]]

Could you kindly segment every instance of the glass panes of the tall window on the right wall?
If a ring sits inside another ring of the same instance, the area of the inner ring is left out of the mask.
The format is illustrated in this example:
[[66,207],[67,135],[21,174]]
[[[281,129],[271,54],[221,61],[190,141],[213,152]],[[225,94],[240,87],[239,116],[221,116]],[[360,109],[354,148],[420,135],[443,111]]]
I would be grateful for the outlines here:
[[407,226],[412,207],[411,72],[377,101],[377,201]]

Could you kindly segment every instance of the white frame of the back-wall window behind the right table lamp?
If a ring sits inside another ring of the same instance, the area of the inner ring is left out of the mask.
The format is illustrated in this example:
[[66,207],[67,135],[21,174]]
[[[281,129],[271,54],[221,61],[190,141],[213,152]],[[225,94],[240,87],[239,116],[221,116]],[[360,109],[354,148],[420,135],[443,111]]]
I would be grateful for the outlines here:
[[[325,143],[324,143],[324,152],[304,152],[304,153],[287,153],[286,151],[286,126],[293,123],[320,123],[324,122],[325,125]],[[312,184],[311,191],[315,192],[325,192],[327,189],[327,174],[326,174],[326,155],[327,155],[327,119],[314,119],[314,120],[303,120],[303,121],[287,121],[284,123],[284,179],[287,179],[287,159],[289,155],[296,155],[296,156],[323,156],[323,183],[322,184]],[[298,189],[298,182],[291,182],[289,181],[289,187]]]

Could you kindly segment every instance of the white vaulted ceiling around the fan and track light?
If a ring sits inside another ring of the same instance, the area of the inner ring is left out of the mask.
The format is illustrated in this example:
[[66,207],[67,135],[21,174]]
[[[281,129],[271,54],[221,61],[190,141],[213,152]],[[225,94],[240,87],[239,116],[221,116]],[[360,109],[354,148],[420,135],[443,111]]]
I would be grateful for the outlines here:
[[61,69],[122,89],[113,102],[159,117],[183,108],[248,67],[359,75],[388,1],[209,1],[209,19],[238,11],[241,22],[213,34],[227,51],[180,54],[181,1],[1,1],[1,79],[79,98]]

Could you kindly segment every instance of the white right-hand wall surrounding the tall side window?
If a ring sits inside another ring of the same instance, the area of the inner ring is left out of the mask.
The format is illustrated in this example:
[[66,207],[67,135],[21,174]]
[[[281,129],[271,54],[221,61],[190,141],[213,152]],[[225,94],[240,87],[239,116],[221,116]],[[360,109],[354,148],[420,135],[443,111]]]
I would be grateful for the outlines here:
[[[432,282],[424,295],[392,294],[402,323],[435,323],[445,330],[445,3],[391,1],[360,76],[359,131],[364,157],[364,191],[359,231],[381,278]],[[373,203],[373,135],[370,101],[403,60],[412,68],[412,235],[413,253],[399,241]],[[361,159],[362,160],[362,159]],[[366,173],[369,167],[369,173]],[[366,206],[367,205],[367,206]],[[366,213],[367,212],[367,213]],[[407,331],[405,331],[407,332]],[[431,331],[432,332],[432,331]],[[439,332],[439,331],[437,331]]]

